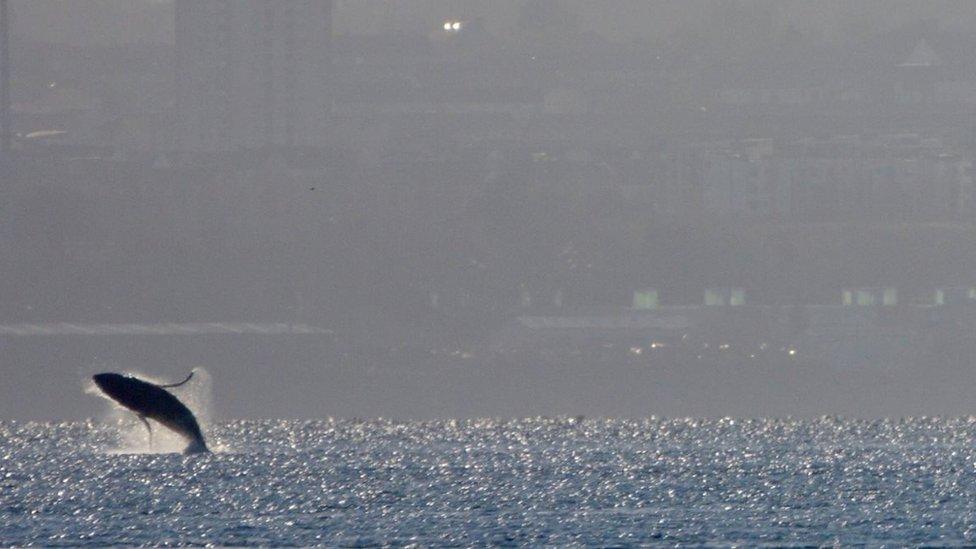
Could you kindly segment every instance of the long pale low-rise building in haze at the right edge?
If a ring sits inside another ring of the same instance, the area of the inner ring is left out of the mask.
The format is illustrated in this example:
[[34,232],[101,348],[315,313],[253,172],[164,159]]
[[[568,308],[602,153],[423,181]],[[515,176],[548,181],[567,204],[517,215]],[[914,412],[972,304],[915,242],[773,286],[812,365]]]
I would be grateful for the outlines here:
[[972,159],[915,134],[719,142],[703,155],[703,210],[751,220],[970,219]]

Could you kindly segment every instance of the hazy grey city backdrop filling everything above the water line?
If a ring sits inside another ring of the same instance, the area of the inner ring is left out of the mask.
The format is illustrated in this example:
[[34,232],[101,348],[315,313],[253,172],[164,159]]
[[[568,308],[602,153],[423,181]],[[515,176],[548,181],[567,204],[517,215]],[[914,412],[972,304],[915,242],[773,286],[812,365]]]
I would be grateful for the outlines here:
[[972,410],[969,2],[2,3],[0,418]]

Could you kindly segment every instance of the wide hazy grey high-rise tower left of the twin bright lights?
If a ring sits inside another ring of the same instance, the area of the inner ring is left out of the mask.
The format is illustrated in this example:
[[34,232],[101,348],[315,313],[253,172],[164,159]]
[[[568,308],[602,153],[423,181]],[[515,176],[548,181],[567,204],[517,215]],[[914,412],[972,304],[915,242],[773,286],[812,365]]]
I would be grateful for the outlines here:
[[178,151],[322,146],[332,0],[176,0]]

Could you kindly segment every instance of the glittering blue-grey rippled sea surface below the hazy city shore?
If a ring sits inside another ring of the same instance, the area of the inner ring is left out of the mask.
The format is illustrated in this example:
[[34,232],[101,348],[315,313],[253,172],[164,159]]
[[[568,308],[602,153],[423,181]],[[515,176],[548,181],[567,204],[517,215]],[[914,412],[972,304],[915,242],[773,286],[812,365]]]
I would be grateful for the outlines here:
[[976,418],[130,428],[0,423],[0,545],[976,542]]

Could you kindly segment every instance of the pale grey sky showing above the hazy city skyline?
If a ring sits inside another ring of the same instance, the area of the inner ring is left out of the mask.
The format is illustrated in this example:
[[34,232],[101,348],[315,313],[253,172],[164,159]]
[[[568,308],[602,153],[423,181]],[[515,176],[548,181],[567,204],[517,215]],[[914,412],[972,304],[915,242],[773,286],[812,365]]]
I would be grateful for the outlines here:
[[[17,17],[13,32],[20,40],[61,44],[172,43],[176,0],[11,0]],[[437,30],[446,18],[481,19],[499,37],[520,32],[519,11],[528,0],[501,4],[473,0],[338,0],[335,32],[416,34]],[[594,3],[555,0],[551,9],[566,12],[583,32],[614,41],[658,41],[698,24],[720,24],[737,11],[762,13],[775,24],[822,34],[830,40],[863,38],[853,31],[885,32],[911,21],[930,20],[952,27],[972,27],[976,14],[964,0],[624,0]],[[393,5],[397,4],[397,5]]]

